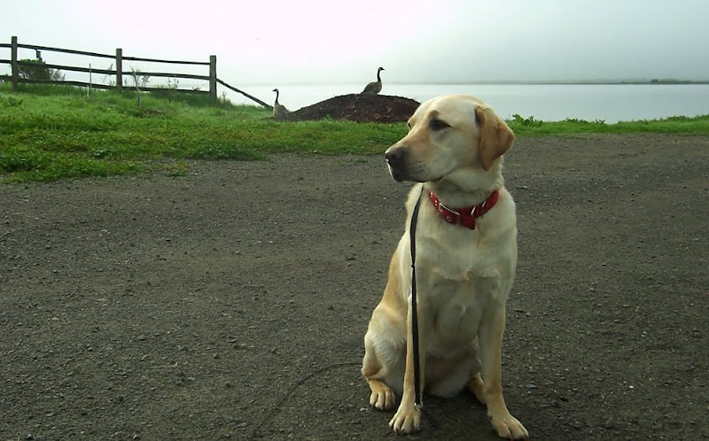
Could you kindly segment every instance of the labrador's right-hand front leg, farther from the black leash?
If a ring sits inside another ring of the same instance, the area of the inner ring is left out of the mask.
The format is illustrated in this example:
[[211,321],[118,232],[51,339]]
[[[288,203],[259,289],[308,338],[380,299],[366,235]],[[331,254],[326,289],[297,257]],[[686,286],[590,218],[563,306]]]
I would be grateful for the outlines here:
[[[510,414],[503,398],[502,346],[505,307],[499,306],[483,317],[478,332],[482,359],[482,400],[487,405],[487,416],[500,437],[529,439],[525,426]],[[474,379],[473,379],[474,380]]]

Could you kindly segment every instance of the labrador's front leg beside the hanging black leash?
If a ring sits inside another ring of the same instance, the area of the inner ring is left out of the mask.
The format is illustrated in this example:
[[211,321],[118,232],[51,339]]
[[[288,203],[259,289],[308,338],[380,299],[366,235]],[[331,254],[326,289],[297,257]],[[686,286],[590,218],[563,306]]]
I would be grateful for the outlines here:
[[[418,366],[420,376],[420,391],[424,391],[424,367],[425,367],[425,347],[426,340],[430,333],[430,325],[425,313],[425,308],[417,308],[418,315]],[[416,390],[414,381],[414,338],[413,319],[411,309],[411,297],[409,296],[409,308],[407,313],[407,337],[406,337],[406,370],[404,371],[404,387],[401,394],[401,403],[396,414],[393,415],[389,426],[397,435],[407,434],[421,428],[421,410],[416,407]]]

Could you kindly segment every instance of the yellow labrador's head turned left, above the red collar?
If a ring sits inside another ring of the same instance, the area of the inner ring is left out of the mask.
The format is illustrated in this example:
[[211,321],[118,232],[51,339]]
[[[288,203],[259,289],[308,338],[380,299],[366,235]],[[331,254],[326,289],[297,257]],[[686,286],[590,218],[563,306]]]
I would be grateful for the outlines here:
[[432,182],[454,174],[499,174],[512,130],[478,98],[450,95],[418,106],[409,134],[386,150],[396,181]]

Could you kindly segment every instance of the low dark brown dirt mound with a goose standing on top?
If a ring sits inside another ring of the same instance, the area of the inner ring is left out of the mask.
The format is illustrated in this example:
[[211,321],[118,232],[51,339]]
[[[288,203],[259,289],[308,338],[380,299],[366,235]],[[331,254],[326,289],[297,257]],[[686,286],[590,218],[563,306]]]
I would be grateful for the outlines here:
[[357,122],[402,122],[409,120],[418,102],[388,95],[340,95],[308,105],[288,115],[287,120],[350,120]]

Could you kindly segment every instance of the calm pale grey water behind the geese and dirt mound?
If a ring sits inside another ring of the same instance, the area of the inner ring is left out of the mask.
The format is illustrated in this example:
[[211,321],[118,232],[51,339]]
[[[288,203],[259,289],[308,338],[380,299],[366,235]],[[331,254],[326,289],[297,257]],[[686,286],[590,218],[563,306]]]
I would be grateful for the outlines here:
[[[245,92],[272,104],[273,86],[243,86]],[[362,85],[279,86],[280,103],[298,110],[324,99],[359,93]],[[382,94],[426,99],[452,93],[480,97],[505,119],[519,113],[537,120],[654,120],[669,116],[709,114],[709,85],[635,84],[386,84]],[[234,103],[253,104],[240,94],[228,96]]]

